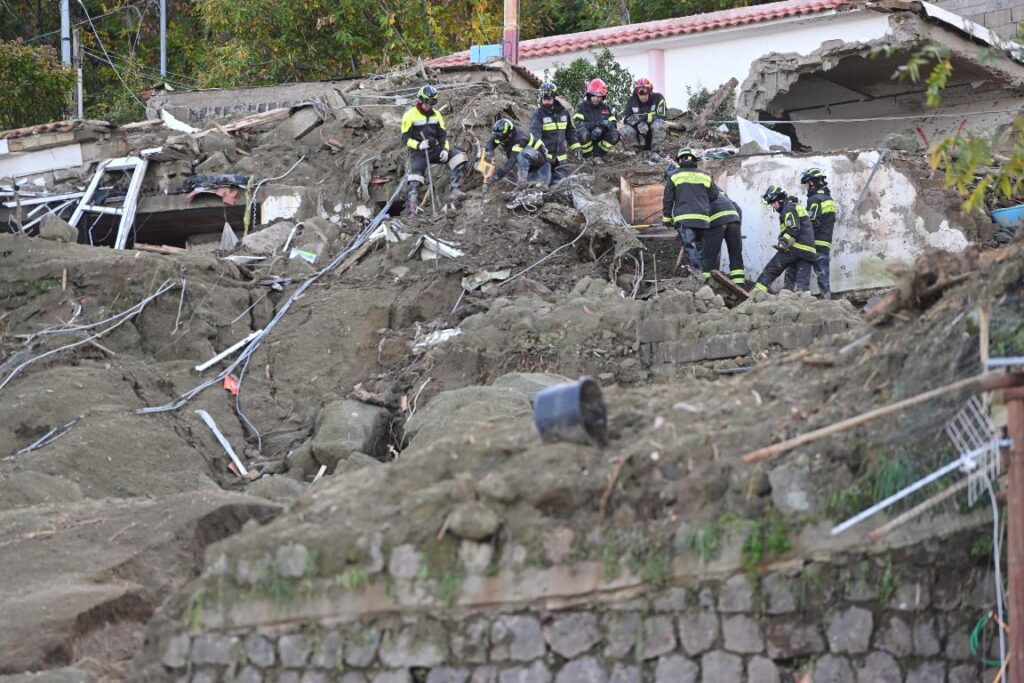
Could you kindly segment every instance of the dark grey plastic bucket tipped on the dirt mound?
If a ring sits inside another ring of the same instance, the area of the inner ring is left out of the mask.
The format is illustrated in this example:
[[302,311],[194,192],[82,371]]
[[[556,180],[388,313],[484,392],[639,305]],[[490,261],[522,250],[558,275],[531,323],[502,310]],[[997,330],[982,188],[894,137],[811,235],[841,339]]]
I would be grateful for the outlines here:
[[608,443],[604,398],[591,377],[542,389],[534,398],[534,424],[547,442]]

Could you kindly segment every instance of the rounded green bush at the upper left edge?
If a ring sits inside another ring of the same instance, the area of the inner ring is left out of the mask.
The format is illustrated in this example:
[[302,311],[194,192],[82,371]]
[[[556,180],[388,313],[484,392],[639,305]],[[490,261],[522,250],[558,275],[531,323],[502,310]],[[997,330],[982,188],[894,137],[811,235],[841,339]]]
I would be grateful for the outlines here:
[[74,85],[53,48],[0,40],[0,130],[63,119]]

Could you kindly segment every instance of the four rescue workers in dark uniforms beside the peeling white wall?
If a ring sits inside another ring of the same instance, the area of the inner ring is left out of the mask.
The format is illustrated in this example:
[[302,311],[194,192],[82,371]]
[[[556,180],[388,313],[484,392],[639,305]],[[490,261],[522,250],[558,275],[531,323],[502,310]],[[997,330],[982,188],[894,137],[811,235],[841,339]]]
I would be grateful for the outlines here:
[[[705,280],[717,270],[722,242],[729,254],[729,280],[745,284],[740,222],[742,210],[702,171],[696,153],[683,147],[676,163],[666,171],[662,223],[675,227],[689,264]],[[754,288],[767,292],[783,272],[785,289],[810,290],[811,271],[817,275],[821,298],[831,298],[829,285],[831,236],[836,226],[836,202],[828,179],[817,168],[803,172],[800,182],[807,190],[807,206],[778,185],[769,185],[761,199],[778,212],[778,243]]]

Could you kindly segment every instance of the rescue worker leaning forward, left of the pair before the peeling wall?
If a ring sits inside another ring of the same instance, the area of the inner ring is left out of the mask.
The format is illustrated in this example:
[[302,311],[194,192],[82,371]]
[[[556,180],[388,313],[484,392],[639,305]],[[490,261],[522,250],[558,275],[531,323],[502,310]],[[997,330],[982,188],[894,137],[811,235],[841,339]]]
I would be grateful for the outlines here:
[[817,258],[814,228],[807,210],[797,203],[797,198],[790,197],[777,185],[769,185],[761,199],[778,212],[778,251],[768,261],[754,287],[767,292],[783,270],[792,268],[794,291],[806,292],[811,287],[811,264]]

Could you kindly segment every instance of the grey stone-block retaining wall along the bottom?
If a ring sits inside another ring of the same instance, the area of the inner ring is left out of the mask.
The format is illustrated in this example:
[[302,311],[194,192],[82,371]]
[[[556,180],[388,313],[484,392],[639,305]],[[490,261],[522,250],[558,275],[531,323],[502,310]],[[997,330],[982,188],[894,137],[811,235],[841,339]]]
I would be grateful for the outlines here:
[[[906,565],[901,565],[905,567]],[[168,679],[196,683],[966,683],[990,582],[879,558],[745,573],[639,599],[179,633]]]

